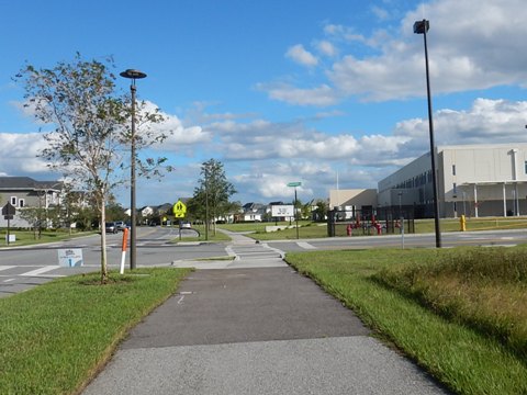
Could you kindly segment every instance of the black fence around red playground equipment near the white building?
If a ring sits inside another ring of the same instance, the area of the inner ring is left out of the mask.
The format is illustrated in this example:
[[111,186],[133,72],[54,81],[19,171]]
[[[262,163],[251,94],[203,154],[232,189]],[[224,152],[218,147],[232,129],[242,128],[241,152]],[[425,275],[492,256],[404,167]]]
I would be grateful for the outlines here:
[[365,208],[352,211],[333,210],[327,213],[327,235],[372,236],[415,233],[413,207]]

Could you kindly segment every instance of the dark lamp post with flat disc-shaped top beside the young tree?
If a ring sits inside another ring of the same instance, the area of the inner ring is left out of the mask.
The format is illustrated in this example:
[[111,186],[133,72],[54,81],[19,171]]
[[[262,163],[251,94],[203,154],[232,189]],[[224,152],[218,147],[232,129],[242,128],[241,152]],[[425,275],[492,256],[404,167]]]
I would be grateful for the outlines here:
[[135,80],[146,77],[139,70],[127,69],[120,74],[121,77],[132,79],[130,91],[132,93],[132,136],[131,136],[131,159],[130,159],[130,269],[136,268],[136,210],[135,210]]

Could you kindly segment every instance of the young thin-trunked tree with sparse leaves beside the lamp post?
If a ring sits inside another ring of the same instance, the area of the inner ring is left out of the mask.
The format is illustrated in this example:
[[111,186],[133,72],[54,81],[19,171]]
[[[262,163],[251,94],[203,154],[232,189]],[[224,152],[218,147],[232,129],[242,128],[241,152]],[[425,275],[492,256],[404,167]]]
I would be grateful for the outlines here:
[[[130,98],[117,94],[112,59],[83,60],[77,54],[72,63],[58,63],[51,69],[37,69],[26,65],[16,76],[25,89],[25,105],[40,123],[53,124],[46,133],[47,142],[41,156],[49,168],[61,171],[75,180],[76,188],[86,191],[94,200],[101,227],[101,282],[108,280],[105,244],[105,206],[112,189],[126,180],[125,148],[131,145]],[[138,125],[146,125],[145,133],[137,133],[136,148],[161,143],[165,136],[148,128],[162,121],[157,110],[136,112]],[[136,160],[143,173],[157,172],[165,160]]]

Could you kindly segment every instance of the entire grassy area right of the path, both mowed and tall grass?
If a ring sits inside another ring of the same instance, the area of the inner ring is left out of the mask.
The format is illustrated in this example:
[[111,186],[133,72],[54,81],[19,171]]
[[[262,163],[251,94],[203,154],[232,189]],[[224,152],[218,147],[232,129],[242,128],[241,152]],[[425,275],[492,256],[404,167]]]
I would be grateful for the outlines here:
[[527,393],[527,249],[288,253],[458,394]]

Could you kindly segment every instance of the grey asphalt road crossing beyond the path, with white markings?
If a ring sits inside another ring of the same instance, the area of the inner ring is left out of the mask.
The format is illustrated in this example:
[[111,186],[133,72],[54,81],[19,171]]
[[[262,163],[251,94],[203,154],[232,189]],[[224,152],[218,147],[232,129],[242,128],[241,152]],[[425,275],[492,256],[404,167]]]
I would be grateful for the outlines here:
[[[302,229],[300,229],[302,237]],[[183,233],[189,232],[183,229]],[[137,266],[181,266],[189,260],[212,257],[242,256],[244,250],[233,250],[223,242],[172,244],[179,237],[178,228],[138,227]],[[184,238],[183,238],[184,240]],[[513,246],[527,240],[527,229],[492,230],[442,234],[442,246]],[[122,234],[108,235],[108,262],[110,269],[117,269],[121,262]],[[401,236],[336,237],[321,239],[274,240],[262,242],[278,253],[306,250],[330,250],[350,248],[402,247]],[[405,235],[405,247],[434,247],[435,235]],[[83,267],[61,268],[58,266],[58,249],[81,248]],[[250,252],[250,246],[244,247]],[[261,252],[257,252],[261,253]],[[254,256],[257,258],[257,256]],[[100,237],[98,235],[76,238],[61,242],[23,247],[0,248],[0,297],[9,296],[45,283],[52,279],[97,271],[100,268]],[[126,267],[128,261],[126,261]]]

